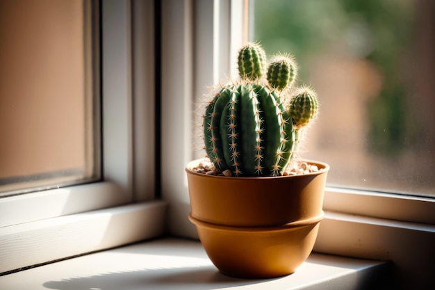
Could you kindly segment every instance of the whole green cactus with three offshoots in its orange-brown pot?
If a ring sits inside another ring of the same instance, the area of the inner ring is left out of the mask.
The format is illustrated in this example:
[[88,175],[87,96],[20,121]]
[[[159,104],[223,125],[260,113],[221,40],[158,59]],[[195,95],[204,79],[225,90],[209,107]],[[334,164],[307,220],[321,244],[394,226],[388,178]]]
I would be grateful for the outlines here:
[[329,166],[297,155],[299,135],[318,113],[317,96],[293,88],[293,57],[266,63],[256,43],[240,48],[238,71],[206,106],[208,159],[186,166],[189,219],[222,273],[288,275],[309,256],[323,218]]

